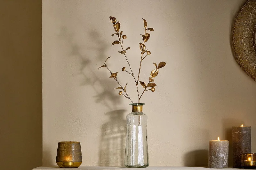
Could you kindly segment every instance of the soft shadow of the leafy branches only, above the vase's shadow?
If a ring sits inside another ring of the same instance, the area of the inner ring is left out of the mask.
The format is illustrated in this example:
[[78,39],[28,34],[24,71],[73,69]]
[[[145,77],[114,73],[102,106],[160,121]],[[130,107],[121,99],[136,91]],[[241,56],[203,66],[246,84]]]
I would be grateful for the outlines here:
[[[91,31],[89,33],[91,39],[91,46],[90,47],[83,47],[81,48],[79,44],[73,42],[72,33],[68,33],[67,28],[62,28],[60,33],[61,37],[66,37],[66,40],[71,46],[71,56],[78,57],[80,60],[80,69],[79,75],[81,75],[82,86],[91,86],[93,91],[96,93],[93,97],[95,98],[96,103],[100,103],[103,106],[107,107],[109,110],[116,109],[116,104],[120,103],[120,99],[118,98],[114,91],[113,87],[116,85],[112,79],[108,78],[109,76],[106,74],[104,75],[105,78],[99,78],[97,75],[99,73],[95,72],[98,71],[95,64],[92,64],[93,59],[96,61],[102,61],[107,58],[104,54],[107,50],[108,44],[100,39],[100,34],[96,31]],[[97,56],[89,57],[86,54],[82,54],[82,51],[95,51],[97,52]],[[91,67],[92,65],[92,67]]]

